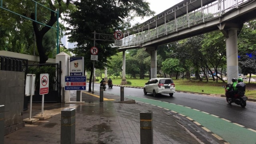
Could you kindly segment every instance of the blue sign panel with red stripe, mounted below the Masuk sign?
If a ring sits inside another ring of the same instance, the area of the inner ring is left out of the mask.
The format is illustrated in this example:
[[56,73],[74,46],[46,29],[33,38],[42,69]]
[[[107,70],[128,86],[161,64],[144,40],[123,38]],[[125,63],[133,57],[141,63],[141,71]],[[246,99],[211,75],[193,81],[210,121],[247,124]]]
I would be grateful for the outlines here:
[[86,76],[65,76],[65,90],[86,90]]

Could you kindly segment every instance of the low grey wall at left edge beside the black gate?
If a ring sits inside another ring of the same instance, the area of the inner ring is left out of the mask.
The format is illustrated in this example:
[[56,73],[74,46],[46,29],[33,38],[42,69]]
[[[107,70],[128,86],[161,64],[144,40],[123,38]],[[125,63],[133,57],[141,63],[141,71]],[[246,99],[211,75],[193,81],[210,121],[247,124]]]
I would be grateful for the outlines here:
[[23,128],[24,72],[0,70],[0,105],[4,110],[4,135]]

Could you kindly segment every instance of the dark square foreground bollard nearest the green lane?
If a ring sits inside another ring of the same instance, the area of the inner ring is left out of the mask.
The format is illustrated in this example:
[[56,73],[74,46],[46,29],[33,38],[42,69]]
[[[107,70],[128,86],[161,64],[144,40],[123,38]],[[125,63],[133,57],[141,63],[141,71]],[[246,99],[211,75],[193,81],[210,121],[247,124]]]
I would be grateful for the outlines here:
[[140,112],[140,144],[153,144],[152,111]]

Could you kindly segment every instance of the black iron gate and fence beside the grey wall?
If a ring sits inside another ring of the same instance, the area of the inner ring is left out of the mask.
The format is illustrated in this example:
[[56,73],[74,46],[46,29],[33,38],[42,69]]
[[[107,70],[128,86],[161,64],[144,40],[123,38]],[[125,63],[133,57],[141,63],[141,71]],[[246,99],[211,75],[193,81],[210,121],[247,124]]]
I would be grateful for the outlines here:
[[[60,73],[61,64],[28,64],[27,59],[14,58],[9,56],[0,56],[0,70],[24,72],[26,74],[36,74],[35,96],[32,102],[42,102],[42,96],[39,95],[40,74],[49,74],[49,92],[44,95],[44,102],[62,102],[60,95]],[[25,82],[26,84],[26,82]],[[24,110],[28,109],[29,96],[24,92]]]

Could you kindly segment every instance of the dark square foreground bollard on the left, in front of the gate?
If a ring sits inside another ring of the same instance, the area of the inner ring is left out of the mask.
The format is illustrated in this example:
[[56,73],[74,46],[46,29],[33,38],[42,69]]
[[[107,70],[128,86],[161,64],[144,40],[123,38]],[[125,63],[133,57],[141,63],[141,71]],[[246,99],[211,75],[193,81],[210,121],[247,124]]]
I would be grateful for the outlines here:
[[61,110],[60,144],[75,144],[76,142],[76,109]]

